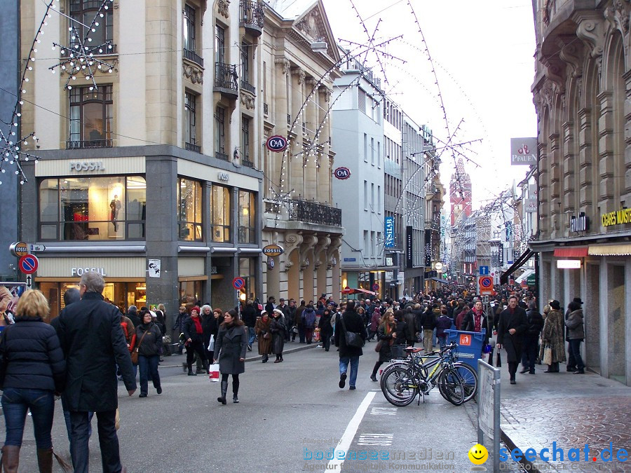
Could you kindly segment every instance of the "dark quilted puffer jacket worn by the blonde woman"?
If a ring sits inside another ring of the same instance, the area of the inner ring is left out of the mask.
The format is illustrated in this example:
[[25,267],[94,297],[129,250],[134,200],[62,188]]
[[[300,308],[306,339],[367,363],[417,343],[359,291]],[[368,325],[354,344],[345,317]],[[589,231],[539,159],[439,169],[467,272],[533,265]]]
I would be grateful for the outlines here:
[[53,327],[37,318],[15,317],[0,337],[0,388],[64,390],[66,361]]

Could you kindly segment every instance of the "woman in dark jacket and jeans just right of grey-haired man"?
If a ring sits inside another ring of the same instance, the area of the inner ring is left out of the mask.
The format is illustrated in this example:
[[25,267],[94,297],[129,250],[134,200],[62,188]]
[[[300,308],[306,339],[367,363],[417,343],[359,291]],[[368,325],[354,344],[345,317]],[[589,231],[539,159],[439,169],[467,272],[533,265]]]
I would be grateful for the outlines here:
[[143,310],[140,317],[142,317],[142,324],[136,327],[136,345],[133,354],[137,354],[138,357],[140,397],[147,397],[149,373],[151,373],[151,381],[154,383],[156,392],[162,394],[160,375],[158,374],[162,332],[158,325],[154,324],[149,310]]

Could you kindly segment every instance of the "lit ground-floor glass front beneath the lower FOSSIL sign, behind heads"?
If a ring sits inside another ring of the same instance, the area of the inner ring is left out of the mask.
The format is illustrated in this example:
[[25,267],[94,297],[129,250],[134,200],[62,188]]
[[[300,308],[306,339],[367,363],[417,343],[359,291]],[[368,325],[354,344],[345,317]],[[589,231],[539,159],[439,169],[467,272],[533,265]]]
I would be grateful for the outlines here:
[[[64,294],[72,287],[79,289],[79,281],[41,282],[39,284],[39,289],[50,304],[51,319],[57,317],[65,307]],[[113,303],[123,313],[126,313],[129,306],[136,306],[139,309],[142,306],[147,306],[147,286],[144,282],[107,282],[106,280],[103,297],[105,301]]]

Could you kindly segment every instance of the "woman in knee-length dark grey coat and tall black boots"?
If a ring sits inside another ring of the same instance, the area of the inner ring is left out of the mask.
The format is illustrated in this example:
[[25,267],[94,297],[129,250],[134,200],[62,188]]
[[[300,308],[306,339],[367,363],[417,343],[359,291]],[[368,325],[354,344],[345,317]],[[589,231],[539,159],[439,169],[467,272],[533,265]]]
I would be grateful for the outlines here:
[[217,401],[226,404],[228,376],[232,375],[232,402],[239,402],[239,375],[245,373],[245,350],[247,350],[247,332],[243,321],[238,320],[236,310],[224,314],[224,322],[219,327],[215,341],[215,362],[219,360],[219,372],[222,373],[222,395]]

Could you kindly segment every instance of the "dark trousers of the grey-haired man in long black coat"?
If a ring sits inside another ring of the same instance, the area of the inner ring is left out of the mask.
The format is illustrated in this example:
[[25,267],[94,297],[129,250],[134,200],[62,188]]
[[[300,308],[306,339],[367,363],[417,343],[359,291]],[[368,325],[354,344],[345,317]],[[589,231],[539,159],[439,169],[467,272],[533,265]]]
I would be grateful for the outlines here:
[[[101,463],[103,472],[118,473],[122,469],[121,454],[118,451],[118,436],[116,435],[116,409],[114,411],[97,412],[99,445],[101,448]],[[87,412],[70,412],[72,425],[72,443],[70,456],[74,473],[87,473],[90,464],[90,450],[88,448],[88,426],[90,425]]]

